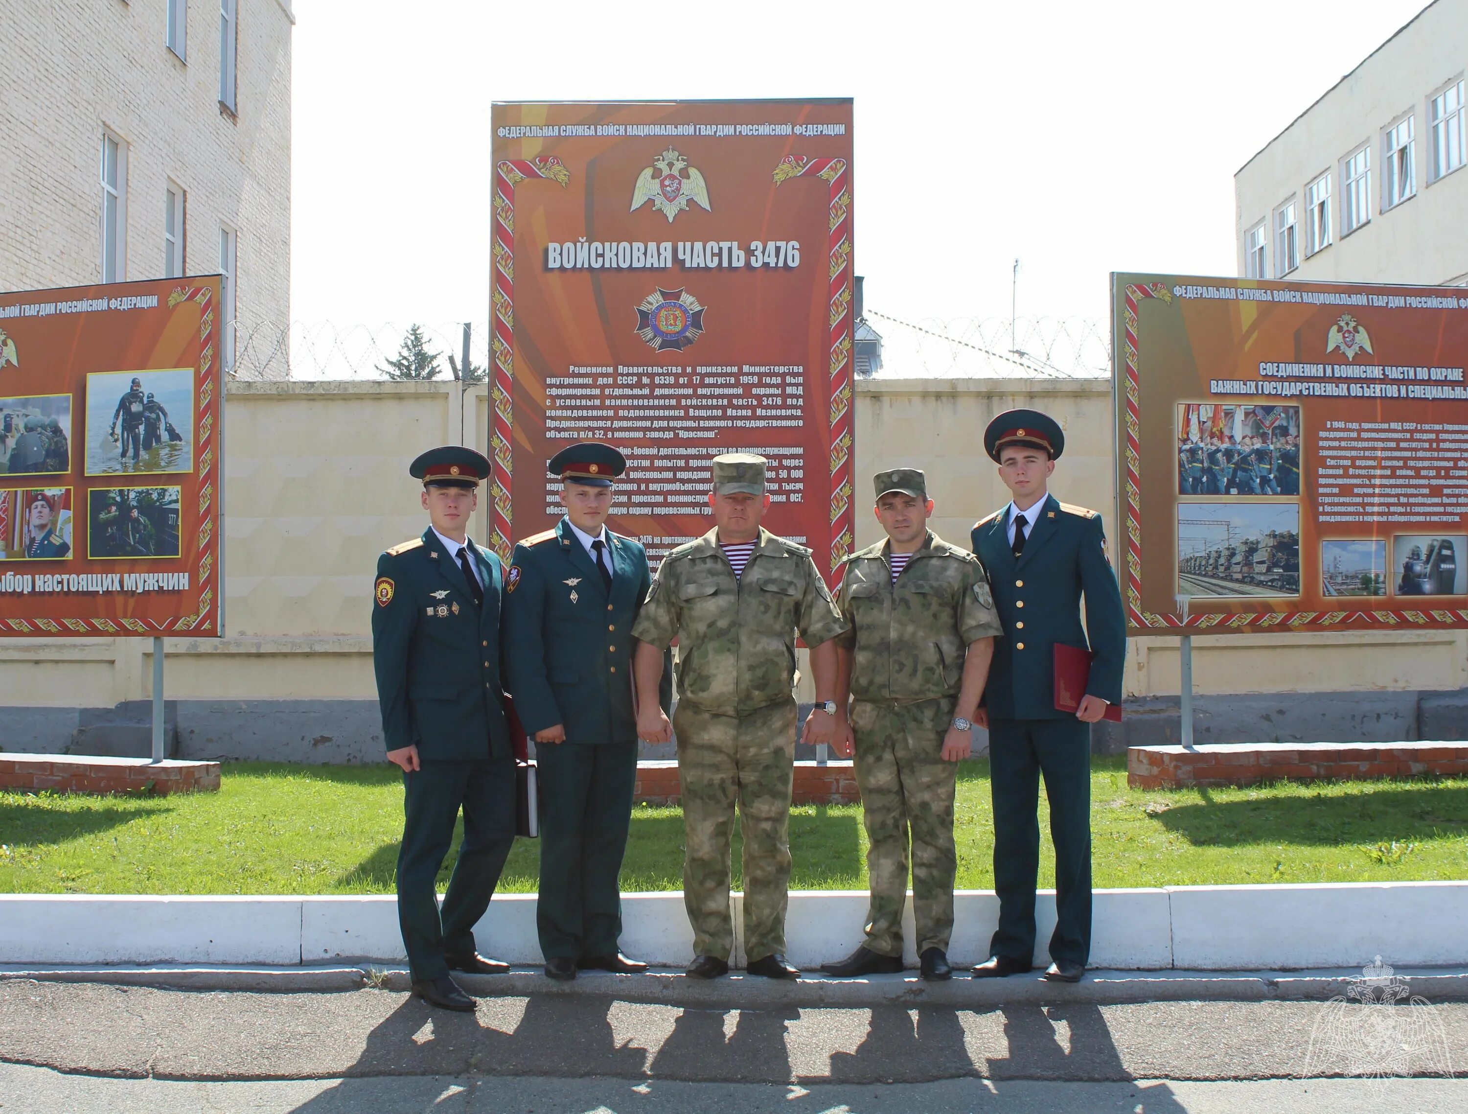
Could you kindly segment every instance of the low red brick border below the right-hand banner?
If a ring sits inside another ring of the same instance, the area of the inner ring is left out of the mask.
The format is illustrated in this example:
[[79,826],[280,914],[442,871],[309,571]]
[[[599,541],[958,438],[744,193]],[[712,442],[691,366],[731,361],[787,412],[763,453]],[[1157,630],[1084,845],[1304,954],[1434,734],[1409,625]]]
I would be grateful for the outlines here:
[[1126,751],[1126,784],[1136,790],[1418,775],[1468,776],[1468,743],[1211,743]]

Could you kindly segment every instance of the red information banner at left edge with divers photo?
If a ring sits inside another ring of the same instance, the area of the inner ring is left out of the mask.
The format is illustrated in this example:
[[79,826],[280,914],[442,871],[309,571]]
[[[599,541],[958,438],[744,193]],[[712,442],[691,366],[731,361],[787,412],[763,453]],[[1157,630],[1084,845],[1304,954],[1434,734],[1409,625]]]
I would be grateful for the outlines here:
[[0,294],[0,636],[220,634],[219,282]]

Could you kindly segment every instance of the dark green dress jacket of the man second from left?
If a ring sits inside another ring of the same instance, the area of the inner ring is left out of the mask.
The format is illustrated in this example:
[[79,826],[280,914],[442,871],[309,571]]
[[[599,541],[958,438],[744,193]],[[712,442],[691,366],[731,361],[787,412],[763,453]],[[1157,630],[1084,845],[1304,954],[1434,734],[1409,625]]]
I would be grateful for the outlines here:
[[606,531],[612,590],[571,523],[515,546],[505,587],[505,680],[534,735],[561,724],[567,743],[636,743],[633,619],[652,577],[630,537]]

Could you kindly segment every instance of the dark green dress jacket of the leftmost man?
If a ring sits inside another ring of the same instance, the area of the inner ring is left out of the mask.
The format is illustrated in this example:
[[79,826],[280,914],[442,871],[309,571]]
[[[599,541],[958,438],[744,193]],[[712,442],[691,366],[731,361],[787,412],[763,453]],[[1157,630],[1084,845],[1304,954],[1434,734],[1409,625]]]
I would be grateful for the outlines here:
[[499,558],[474,546],[484,606],[432,528],[377,558],[373,668],[388,750],[420,759],[509,757],[501,705]]

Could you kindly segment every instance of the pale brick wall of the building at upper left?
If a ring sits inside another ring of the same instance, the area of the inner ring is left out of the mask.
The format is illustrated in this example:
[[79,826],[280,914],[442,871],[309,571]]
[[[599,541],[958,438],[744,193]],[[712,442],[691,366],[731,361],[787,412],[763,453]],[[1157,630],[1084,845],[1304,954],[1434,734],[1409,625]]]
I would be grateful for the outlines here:
[[[186,191],[185,273],[238,229],[239,349],[269,352],[291,308],[289,0],[238,0],[238,117],[219,107],[219,0],[188,0],[186,62],[164,0],[9,6],[0,34],[0,289],[101,280],[103,131],[128,144],[126,267],[163,274],[167,179]],[[267,374],[286,374],[285,352]],[[242,360],[245,368],[254,361]]]

